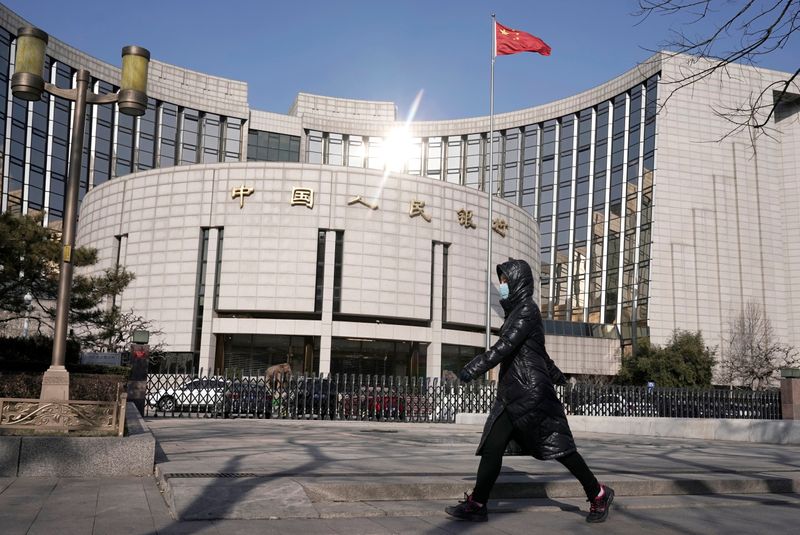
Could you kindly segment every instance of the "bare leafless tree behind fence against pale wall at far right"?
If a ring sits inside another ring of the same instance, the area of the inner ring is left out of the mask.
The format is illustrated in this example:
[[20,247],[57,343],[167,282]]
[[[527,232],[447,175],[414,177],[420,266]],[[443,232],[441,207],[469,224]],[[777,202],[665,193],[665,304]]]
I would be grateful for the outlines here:
[[720,377],[731,385],[753,390],[774,386],[783,367],[796,365],[797,350],[780,343],[772,324],[757,303],[748,303],[731,321]]

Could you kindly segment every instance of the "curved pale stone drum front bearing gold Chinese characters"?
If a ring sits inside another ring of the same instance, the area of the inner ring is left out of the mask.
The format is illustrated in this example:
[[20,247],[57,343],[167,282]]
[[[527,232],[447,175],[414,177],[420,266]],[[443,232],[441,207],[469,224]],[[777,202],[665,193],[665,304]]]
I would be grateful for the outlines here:
[[[242,186],[252,193],[232,198],[232,190]],[[293,205],[294,188],[312,191],[313,206]],[[359,196],[376,208],[353,202]],[[422,214],[411,215],[413,201],[425,203]],[[535,221],[509,203],[493,204],[494,218],[508,224],[505,237],[493,234],[493,264],[522,258],[538,271]],[[459,224],[460,210],[472,211],[476,228]],[[487,211],[479,192],[405,175],[298,164],[198,165],[129,175],[95,188],[82,205],[80,243],[100,251],[97,269],[112,267],[118,256],[136,274],[120,306],[152,319],[170,350],[190,351],[201,229],[214,231],[202,282],[209,305],[215,278],[219,290],[203,318],[205,369],[215,364],[215,335],[259,333],[321,336],[321,372],[328,371],[331,336],[419,341],[431,344],[428,374],[436,376],[437,342],[484,344]],[[224,229],[219,264],[217,229]],[[321,229],[344,232],[338,314],[354,320],[336,321],[330,308],[330,237],[326,298],[315,309]],[[494,294],[498,310],[496,299]],[[319,318],[311,317],[315,312]],[[449,329],[447,323],[472,330]],[[492,323],[502,323],[496,311]]]

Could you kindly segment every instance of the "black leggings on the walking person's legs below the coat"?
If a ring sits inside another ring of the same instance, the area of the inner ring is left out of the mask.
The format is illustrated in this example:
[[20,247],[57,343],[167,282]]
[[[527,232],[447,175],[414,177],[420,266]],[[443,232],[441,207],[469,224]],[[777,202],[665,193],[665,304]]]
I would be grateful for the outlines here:
[[[478,477],[475,482],[475,488],[472,491],[472,499],[476,502],[486,503],[489,500],[489,493],[494,486],[494,482],[497,481],[497,476],[500,475],[500,468],[503,466],[503,453],[511,441],[513,432],[514,425],[511,423],[511,418],[506,411],[503,411],[495,420],[491,431],[489,431],[489,436],[486,437],[486,441],[483,443],[481,463],[478,465]],[[586,466],[586,461],[583,460],[580,453],[574,451],[556,460],[566,466],[567,470],[581,482],[587,498],[591,500],[600,494],[600,484],[589,467]]]

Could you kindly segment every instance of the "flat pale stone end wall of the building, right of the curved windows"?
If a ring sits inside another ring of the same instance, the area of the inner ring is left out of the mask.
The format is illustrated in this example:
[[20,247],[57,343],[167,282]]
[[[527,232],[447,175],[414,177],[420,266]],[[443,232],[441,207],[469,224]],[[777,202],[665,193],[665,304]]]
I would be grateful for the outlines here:
[[[724,357],[731,321],[760,305],[783,343],[800,347],[800,114],[771,118],[751,137],[720,115],[753,100],[787,73],[728,66],[673,92],[671,82],[706,63],[662,63],[649,326],[703,333]],[[800,94],[800,84],[789,87]],[[669,98],[667,98],[669,97]],[[772,90],[767,104],[773,102]],[[796,98],[796,97],[795,97]],[[766,118],[769,110],[759,115]]]

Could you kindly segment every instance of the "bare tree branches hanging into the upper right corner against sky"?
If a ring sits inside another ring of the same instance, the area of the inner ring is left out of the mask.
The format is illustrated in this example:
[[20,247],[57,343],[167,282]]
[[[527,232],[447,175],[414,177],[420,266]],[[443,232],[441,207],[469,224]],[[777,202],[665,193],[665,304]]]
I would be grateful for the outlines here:
[[[717,13],[728,13],[721,18],[716,28],[707,35],[691,37],[684,30],[673,30],[672,37],[663,46],[675,54],[695,56],[692,63],[698,68],[671,80],[672,90],[664,102],[675,91],[722,72],[731,75],[729,67],[734,63],[757,65],[759,59],[786,47],[797,39],[800,29],[800,0],[639,0],[642,18],[660,14],[668,16],[687,15],[689,26],[711,18]],[[800,63],[800,56],[797,56]],[[770,120],[780,114],[782,106],[797,107],[800,98],[792,93],[800,80],[800,65],[782,80],[773,81],[750,95],[746,102],[715,112],[729,121],[731,130],[727,137],[747,130],[751,139],[768,132]]]

